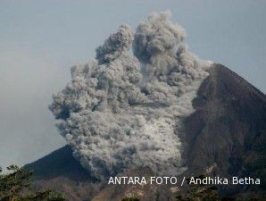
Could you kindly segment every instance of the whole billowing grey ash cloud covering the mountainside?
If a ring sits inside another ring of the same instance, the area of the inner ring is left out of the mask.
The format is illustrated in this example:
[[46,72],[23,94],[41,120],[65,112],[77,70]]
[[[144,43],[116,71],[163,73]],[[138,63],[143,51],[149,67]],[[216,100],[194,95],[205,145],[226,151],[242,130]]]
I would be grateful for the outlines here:
[[96,60],[71,68],[71,83],[50,105],[73,155],[98,179],[144,166],[167,175],[184,170],[182,119],[193,112],[209,64],[188,51],[185,30],[169,17],[154,13],[135,36],[121,26]]

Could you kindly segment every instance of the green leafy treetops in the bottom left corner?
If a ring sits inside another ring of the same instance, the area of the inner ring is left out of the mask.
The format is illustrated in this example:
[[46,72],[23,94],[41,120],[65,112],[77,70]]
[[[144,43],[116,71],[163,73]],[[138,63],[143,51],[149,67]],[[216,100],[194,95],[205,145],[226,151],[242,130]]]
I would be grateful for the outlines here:
[[32,192],[30,179],[33,172],[28,172],[16,165],[7,167],[8,173],[0,168],[0,201],[64,201],[65,199],[52,190]]

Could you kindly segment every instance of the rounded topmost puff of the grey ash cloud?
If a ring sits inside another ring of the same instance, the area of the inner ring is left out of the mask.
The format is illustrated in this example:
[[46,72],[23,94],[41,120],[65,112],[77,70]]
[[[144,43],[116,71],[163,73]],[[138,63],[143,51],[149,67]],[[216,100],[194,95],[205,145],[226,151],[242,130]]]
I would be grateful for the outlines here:
[[186,38],[186,32],[169,18],[169,11],[153,13],[138,25],[133,50],[139,61],[154,63],[159,55],[166,59],[175,54],[174,49]]

